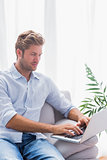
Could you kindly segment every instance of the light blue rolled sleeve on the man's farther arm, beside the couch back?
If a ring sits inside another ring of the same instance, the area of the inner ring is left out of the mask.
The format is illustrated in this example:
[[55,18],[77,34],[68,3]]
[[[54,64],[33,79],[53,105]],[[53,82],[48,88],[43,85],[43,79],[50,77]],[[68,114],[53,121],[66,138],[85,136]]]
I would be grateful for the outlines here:
[[75,106],[73,106],[71,101],[59,91],[57,86],[50,79],[48,81],[48,86],[50,92],[46,102],[52,105],[56,110],[60,111],[65,117],[68,117],[68,113],[75,108]]

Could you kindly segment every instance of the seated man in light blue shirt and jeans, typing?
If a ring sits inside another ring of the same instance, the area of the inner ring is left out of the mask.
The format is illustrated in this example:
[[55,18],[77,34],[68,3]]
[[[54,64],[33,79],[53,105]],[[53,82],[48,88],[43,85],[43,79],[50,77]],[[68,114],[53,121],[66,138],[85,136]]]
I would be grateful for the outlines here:
[[[61,97],[55,84],[34,72],[42,55],[44,39],[34,31],[19,35],[15,49],[17,60],[9,71],[0,74],[0,159],[63,160],[59,151],[42,133],[73,135],[82,131],[89,118]],[[51,125],[39,122],[45,102],[59,110],[77,125]]]

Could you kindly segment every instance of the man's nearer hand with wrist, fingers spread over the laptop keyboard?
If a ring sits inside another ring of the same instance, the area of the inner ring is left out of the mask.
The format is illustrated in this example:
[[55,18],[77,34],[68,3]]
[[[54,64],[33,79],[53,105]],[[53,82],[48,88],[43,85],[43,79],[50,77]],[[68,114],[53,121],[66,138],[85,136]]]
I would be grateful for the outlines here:
[[82,130],[79,129],[77,125],[73,124],[61,124],[61,125],[54,125],[53,126],[53,133],[54,134],[69,134],[69,135],[75,135],[72,131],[74,131],[76,134],[83,134]]

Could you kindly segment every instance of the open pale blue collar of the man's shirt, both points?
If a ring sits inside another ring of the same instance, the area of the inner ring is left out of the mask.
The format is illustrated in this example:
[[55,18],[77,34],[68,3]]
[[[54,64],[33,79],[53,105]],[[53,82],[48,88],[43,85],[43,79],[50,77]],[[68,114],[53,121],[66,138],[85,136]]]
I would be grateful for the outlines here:
[[[16,69],[15,65],[12,64],[11,68],[10,68],[10,72],[13,76],[14,79],[19,79],[21,77],[23,77],[19,72],[18,70]],[[31,78],[37,78],[39,79],[39,77],[37,76],[36,72],[32,72],[31,73]]]

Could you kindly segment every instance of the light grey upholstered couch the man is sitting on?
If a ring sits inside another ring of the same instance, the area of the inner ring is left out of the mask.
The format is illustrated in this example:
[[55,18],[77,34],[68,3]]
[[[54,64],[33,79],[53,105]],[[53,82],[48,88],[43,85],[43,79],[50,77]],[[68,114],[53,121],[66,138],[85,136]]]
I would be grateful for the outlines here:
[[[69,100],[70,94],[68,91],[62,92]],[[66,119],[58,111],[56,111],[51,105],[45,103],[40,115],[40,122],[49,124],[63,124],[72,123],[75,121]],[[66,160],[96,160],[98,149],[96,147],[97,137],[93,137],[82,144],[73,144],[61,140],[51,138],[51,133],[45,133],[50,143],[56,146]]]

